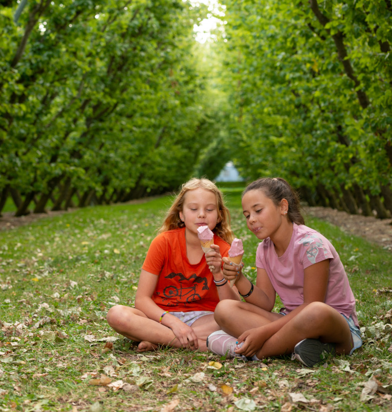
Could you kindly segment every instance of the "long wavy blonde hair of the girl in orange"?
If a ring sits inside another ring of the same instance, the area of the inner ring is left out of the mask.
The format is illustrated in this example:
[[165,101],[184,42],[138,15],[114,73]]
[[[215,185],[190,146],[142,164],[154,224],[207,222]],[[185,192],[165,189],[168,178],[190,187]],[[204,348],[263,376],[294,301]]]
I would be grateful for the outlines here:
[[231,245],[231,242],[234,239],[234,234],[230,228],[229,209],[224,206],[223,195],[217,185],[211,180],[205,178],[193,178],[182,185],[181,191],[174,199],[174,202],[167,212],[163,225],[159,228],[158,233],[185,227],[185,223],[180,219],[180,212],[184,207],[185,194],[188,191],[198,189],[199,187],[210,190],[214,193],[217,199],[218,223],[213,232]]

